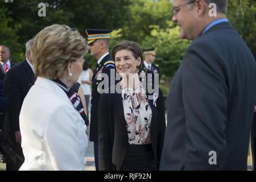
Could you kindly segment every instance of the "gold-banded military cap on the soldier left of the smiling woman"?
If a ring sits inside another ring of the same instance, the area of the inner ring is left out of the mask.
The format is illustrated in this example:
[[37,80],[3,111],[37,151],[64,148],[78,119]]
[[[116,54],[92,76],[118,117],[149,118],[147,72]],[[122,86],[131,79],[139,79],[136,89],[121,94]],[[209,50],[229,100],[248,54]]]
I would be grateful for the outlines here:
[[88,35],[88,44],[93,43],[97,39],[109,39],[113,30],[86,29]]

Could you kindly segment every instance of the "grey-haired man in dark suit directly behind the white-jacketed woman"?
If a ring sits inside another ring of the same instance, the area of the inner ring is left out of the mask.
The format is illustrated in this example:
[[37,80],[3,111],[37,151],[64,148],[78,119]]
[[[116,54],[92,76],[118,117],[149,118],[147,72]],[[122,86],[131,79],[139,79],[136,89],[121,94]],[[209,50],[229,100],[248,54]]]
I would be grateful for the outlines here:
[[[23,159],[24,156],[20,146],[22,138],[19,130],[19,113],[23,100],[34,82],[34,68],[30,56],[31,46],[32,40],[29,40],[26,44],[26,60],[16,64],[7,72],[3,84],[3,92],[10,102],[5,119],[5,135],[13,143],[13,150]],[[21,165],[22,163],[15,166],[6,163],[6,170],[18,170]]]

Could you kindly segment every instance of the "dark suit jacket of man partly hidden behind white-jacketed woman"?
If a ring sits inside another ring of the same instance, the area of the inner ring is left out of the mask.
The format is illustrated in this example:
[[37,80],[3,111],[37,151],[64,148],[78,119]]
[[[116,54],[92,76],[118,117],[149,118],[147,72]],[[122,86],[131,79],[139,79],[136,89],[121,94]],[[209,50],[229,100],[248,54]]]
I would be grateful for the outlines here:
[[[34,72],[26,60],[11,68],[5,77],[3,92],[9,99],[10,106],[6,113],[6,124],[11,133],[19,131],[19,113],[28,90],[34,84]],[[6,126],[7,126],[6,125]],[[5,126],[5,129],[6,129]]]

